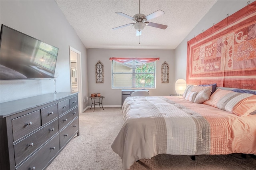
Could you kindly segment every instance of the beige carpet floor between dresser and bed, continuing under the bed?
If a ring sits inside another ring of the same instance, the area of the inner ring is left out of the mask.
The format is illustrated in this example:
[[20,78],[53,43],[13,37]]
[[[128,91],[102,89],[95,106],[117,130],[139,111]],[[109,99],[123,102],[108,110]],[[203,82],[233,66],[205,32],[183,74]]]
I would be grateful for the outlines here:
[[[122,160],[110,147],[122,127],[120,108],[95,108],[80,113],[75,136],[46,170],[122,170]],[[160,154],[135,162],[131,170],[256,170],[256,159],[240,154],[190,156]]]

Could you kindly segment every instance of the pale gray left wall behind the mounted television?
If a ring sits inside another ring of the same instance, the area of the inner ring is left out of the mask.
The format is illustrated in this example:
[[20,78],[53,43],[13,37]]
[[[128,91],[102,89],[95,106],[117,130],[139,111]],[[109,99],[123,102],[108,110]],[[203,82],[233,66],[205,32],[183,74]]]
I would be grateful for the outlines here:
[[[54,0],[0,1],[0,22],[59,48],[56,91],[71,91],[69,45],[82,53],[83,97],[88,96],[86,48]],[[0,81],[0,103],[54,92],[53,80]],[[83,102],[83,108],[87,103]]]

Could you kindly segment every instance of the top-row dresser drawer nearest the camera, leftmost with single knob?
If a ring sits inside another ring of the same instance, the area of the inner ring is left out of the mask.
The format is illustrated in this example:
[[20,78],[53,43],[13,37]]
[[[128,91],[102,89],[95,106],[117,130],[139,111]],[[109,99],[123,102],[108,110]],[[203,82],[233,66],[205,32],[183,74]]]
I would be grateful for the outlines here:
[[36,130],[41,125],[40,111],[34,111],[24,116],[12,119],[13,141],[25,136]]

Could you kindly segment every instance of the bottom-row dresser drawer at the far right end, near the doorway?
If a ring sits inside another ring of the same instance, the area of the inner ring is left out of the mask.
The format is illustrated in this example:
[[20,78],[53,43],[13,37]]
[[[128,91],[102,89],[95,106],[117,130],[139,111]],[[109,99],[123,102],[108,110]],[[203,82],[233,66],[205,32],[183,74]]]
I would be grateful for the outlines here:
[[78,132],[78,118],[60,132],[60,148],[62,148],[76,132]]

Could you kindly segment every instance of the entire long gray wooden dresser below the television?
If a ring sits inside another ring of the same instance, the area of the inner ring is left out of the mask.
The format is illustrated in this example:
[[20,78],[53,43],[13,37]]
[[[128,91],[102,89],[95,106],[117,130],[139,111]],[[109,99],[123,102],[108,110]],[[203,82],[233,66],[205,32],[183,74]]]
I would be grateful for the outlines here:
[[0,103],[0,168],[43,170],[77,134],[78,92]]

